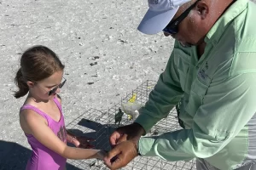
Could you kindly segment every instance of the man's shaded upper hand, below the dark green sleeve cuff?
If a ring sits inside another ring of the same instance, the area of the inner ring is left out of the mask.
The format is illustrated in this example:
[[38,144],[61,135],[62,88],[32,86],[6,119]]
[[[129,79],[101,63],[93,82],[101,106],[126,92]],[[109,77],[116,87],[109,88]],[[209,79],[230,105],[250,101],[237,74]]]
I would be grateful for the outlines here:
[[112,147],[116,146],[117,144],[126,141],[126,140],[133,140],[134,143],[137,144],[138,139],[145,133],[143,127],[134,122],[131,125],[127,125],[124,127],[119,127],[114,131],[109,140]]

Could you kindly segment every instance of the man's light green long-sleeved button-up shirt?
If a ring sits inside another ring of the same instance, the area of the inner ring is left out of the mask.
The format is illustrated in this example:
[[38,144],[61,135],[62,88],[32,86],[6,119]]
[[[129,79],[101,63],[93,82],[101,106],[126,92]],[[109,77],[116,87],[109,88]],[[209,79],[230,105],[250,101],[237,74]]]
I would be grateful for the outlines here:
[[[135,121],[148,133],[182,99],[185,128],[141,138],[139,152],[167,161],[199,157],[219,169],[234,169],[248,160],[248,122],[256,112],[256,4],[237,0],[205,42],[200,59],[195,47],[175,43],[166,70]],[[256,122],[250,126],[256,128]]]

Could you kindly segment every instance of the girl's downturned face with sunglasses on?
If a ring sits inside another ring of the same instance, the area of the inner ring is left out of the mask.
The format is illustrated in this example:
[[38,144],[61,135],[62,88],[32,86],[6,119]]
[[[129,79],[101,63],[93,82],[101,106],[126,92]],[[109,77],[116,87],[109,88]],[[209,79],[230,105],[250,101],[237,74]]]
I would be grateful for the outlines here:
[[27,83],[33,98],[48,100],[53,99],[57,93],[60,93],[60,88],[65,82],[63,71],[57,71],[42,81]]

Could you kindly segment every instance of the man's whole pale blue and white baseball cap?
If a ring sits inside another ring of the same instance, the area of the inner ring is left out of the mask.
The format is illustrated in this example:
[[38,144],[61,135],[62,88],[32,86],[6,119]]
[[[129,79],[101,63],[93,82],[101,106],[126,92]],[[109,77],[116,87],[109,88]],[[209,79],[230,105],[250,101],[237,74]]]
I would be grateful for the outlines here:
[[148,11],[143,17],[138,31],[144,34],[156,34],[162,31],[173,16],[177,9],[190,0],[148,0]]

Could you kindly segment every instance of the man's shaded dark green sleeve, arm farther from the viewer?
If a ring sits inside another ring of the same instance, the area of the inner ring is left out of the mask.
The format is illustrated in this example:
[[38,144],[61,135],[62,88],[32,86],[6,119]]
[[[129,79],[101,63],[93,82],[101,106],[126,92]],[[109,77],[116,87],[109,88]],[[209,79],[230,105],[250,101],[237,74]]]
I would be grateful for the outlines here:
[[178,76],[174,58],[172,51],[166,70],[160,75],[153,91],[149,94],[148,102],[140,109],[140,115],[135,120],[146,133],[156,122],[168,116],[174,105],[177,105],[183,96],[179,79],[184,77]]

